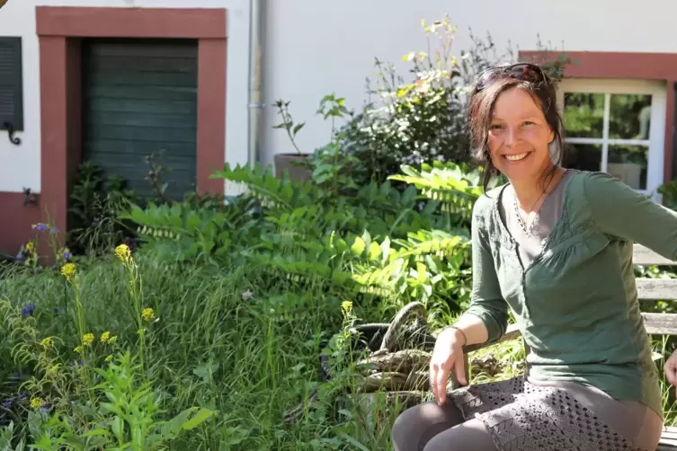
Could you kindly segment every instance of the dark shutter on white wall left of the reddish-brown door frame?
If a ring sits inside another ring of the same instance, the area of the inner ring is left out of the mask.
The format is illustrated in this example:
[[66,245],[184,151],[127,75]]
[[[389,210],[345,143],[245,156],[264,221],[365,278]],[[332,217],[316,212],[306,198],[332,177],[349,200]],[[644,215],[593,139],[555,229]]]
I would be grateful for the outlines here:
[[0,129],[23,130],[22,39],[0,37]]

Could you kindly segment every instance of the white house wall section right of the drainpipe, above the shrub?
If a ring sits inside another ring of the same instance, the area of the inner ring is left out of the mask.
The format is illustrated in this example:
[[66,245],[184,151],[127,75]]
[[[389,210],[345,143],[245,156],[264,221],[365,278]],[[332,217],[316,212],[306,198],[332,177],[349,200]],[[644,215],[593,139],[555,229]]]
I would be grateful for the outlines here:
[[[272,0],[265,99],[291,101],[294,118],[307,121],[299,147],[310,152],[329,136],[329,124],[315,115],[320,99],[336,93],[359,109],[374,57],[397,63],[406,52],[423,50],[421,19],[432,22],[445,13],[459,28],[456,55],[468,48],[468,27],[479,36],[490,32],[499,50],[509,40],[536,49],[539,34],[572,51],[677,52],[673,0]],[[272,107],[265,122],[265,161],[294,152],[284,132],[270,128],[278,122]]]

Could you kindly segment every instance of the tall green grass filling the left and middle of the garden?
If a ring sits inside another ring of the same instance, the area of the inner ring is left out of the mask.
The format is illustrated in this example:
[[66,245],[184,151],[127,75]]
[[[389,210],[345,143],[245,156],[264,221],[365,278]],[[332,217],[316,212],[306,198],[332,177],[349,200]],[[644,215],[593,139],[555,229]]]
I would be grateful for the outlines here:
[[[29,303],[36,340],[54,337],[64,367],[82,359],[73,349],[82,345],[80,329],[97,340],[84,366],[106,367],[110,349],[99,337],[117,336],[118,349],[141,352],[141,367],[157,394],[158,407],[170,418],[184,409],[200,406],[215,415],[199,429],[183,433],[171,449],[351,449],[346,443],[361,435],[352,413],[332,411],[327,403],[307,410],[295,423],[286,425],[283,413],[316,388],[322,347],[343,323],[341,299],[322,284],[294,287],[283,275],[256,267],[223,268],[180,264],[137,255],[143,279],[143,305],[156,319],[146,322],[144,340],[139,339],[138,309],[130,295],[129,271],[114,257],[106,261],[77,264],[83,324],[75,321],[74,293],[65,279],[49,271],[30,275],[9,274],[0,283],[0,299],[17,309]],[[359,305],[356,306],[359,312]],[[22,363],[12,354],[18,344],[8,331],[0,332],[0,401],[26,391],[32,361]],[[21,373],[21,381],[13,376]],[[96,382],[101,382],[101,377]],[[24,383],[23,386],[21,384]],[[27,393],[25,402],[0,407],[0,420],[13,421],[28,437],[29,401],[49,402],[50,385],[40,393]],[[85,391],[84,393],[91,393]],[[76,394],[71,394],[71,397]],[[101,402],[101,401],[100,401]],[[44,417],[67,411],[67,404],[43,409]],[[393,413],[394,415],[395,413]],[[370,428],[368,428],[370,429]],[[387,425],[381,433],[365,438],[366,449],[387,446]],[[369,443],[370,439],[379,444]],[[95,449],[95,448],[93,448]]]

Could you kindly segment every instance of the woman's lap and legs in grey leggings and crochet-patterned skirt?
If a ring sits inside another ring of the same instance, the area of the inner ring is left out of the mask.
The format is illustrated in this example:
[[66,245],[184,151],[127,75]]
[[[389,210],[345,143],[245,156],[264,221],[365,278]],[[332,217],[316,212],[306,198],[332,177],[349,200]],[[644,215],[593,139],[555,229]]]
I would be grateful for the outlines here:
[[590,386],[523,377],[470,385],[402,412],[396,451],[648,451],[663,420]]

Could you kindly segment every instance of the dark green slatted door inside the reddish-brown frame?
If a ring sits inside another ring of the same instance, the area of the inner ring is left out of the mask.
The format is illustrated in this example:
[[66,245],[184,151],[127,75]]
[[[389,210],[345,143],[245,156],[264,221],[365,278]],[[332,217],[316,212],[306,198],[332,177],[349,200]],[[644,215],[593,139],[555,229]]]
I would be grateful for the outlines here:
[[181,199],[196,183],[198,46],[195,40],[83,42],[83,160],[152,193],[155,155]]

